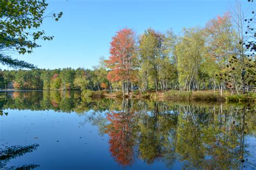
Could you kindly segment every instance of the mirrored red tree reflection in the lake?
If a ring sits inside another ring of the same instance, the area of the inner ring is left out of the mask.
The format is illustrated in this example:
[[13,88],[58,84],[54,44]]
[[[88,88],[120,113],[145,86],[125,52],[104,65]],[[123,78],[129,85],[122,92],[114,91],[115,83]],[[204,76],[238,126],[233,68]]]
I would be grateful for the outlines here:
[[123,166],[132,164],[133,139],[130,128],[130,119],[124,112],[107,114],[107,120],[111,123],[106,127],[109,134],[110,152],[112,157]]

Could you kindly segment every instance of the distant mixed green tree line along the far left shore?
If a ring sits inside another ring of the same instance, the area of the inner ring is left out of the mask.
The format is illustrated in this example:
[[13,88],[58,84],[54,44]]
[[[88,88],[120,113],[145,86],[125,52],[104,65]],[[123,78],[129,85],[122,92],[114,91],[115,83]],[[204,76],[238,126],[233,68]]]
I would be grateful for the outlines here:
[[[95,68],[0,70],[0,88],[17,90],[102,90],[108,87],[101,74],[106,70]],[[12,85],[12,86],[11,86]]]

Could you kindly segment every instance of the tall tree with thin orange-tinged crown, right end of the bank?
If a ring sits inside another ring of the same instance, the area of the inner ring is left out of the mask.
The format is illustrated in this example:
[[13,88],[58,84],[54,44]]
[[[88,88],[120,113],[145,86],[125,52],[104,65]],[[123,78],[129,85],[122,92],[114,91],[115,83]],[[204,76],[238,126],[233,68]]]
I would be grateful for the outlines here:
[[[211,19],[205,27],[206,33],[206,44],[207,44],[207,53],[206,53],[206,64],[205,72],[212,77],[214,83],[214,89],[216,83],[220,93],[226,87],[226,82],[224,79],[225,75],[231,75],[229,72],[231,70],[229,60],[237,51],[237,35],[233,29],[231,16],[229,13],[225,13],[224,16],[217,16],[217,18]],[[215,75],[218,75],[215,77]],[[241,77],[239,77],[241,78]],[[230,86],[236,86],[233,81]]]

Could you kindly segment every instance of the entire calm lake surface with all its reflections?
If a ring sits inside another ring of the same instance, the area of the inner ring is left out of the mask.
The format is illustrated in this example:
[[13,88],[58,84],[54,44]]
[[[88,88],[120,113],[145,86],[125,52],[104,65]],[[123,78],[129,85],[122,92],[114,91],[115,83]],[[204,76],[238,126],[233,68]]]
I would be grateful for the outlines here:
[[255,169],[255,105],[0,93],[0,169]]

